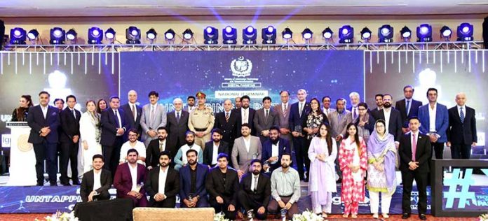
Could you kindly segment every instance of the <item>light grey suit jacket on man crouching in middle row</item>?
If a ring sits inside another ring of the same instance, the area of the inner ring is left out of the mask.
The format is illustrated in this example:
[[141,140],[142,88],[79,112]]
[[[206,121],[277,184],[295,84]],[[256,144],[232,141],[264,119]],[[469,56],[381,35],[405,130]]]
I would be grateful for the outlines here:
[[236,170],[248,172],[248,166],[252,161],[253,156],[255,156],[257,159],[261,159],[262,157],[261,141],[257,136],[251,136],[250,138],[249,152],[245,148],[244,137],[241,136],[240,138],[236,138],[236,141],[234,141],[231,158],[233,168]]

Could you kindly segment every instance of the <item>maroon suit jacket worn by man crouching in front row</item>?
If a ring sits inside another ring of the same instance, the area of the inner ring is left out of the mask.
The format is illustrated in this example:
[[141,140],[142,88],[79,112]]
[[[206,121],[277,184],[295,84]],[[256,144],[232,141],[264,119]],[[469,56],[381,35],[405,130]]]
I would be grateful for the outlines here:
[[[142,184],[146,180],[146,166],[137,164],[137,184]],[[129,163],[119,164],[114,176],[114,187],[117,189],[117,197],[125,197],[132,190],[132,176],[130,176]],[[144,186],[139,190],[141,194],[146,194]]]

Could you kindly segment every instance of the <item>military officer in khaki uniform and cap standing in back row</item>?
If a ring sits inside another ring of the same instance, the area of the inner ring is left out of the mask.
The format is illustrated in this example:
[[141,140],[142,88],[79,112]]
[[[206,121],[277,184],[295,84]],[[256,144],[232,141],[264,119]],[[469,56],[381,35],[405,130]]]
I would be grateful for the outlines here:
[[205,143],[210,141],[215,117],[212,108],[205,106],[207,95],[203,92],[196,93],[198,106],[190,113],[188,128],[195,133],[195,144],[205,148]]

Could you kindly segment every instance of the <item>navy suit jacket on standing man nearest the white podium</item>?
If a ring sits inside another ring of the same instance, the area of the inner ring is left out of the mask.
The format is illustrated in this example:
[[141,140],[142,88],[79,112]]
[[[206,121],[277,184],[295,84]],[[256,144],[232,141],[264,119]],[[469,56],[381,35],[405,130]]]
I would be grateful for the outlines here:
[[[57,108],[53,106],[48,106],[46,119],[44,119],[44,115],[42,113],[40,105],[30,107],[29,114],[27,115],[27,124],[29,124],[29,127],[31,128],[29,134],[29,143],[42,143],[44,139],[46,139],[48,143],[57,143],[57,129],[60,125],[60,115]],[[40,136],[41,129],[43,127],[49,127],[50,133],[48,134],[48,136]]]

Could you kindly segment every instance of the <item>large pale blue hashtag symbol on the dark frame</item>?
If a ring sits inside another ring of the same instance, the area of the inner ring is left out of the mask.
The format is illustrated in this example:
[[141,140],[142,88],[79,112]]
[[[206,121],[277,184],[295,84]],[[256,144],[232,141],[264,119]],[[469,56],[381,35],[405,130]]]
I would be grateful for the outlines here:
[[[469,205],[468,199],[471,199],[476,205],[475,192],[469,192],[469,186],[475,183],[471,178],[473,169],[466,169],[464,178],[459,178],[460,169],[452,171],[452,177],[444,180],[444,185],[449,186],[449,192],[443,192],[444,198],[447,198],[446,208],[452,208],[454,199],[459,199],[457,208],[464,208],[466,204]],[[461,186],[461,191],[458,191],[458,185]]]

